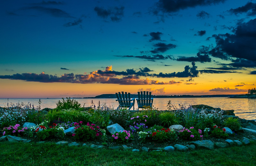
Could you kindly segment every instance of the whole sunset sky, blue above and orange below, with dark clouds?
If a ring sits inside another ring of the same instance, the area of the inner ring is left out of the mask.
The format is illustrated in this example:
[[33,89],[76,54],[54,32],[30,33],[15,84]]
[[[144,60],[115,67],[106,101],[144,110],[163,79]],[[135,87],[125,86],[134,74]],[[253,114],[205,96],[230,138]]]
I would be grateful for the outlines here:
[[3,1],[0,98],[246,94],[256,0]]

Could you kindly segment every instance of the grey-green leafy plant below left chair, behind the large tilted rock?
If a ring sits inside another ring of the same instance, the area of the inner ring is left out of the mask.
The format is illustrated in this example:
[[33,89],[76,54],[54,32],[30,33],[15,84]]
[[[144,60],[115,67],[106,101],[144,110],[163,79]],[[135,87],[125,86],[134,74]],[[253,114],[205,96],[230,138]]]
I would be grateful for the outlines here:
[[121,126],[126,125],[126,120],[130,117],[130,111],[127,108],[112,109],[108,111],[110,120],[115,124],[118,123]]

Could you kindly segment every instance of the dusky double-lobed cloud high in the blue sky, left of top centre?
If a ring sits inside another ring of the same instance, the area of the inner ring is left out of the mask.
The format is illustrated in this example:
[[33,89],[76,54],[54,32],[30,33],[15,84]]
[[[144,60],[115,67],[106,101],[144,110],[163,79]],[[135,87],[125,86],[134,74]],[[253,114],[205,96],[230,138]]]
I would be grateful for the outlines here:
[[113,22],[119,22],[122,20],[124,16],[124,6],[121,6],[120,8],[114,7],[111,9],[104,9],[103,7],[95,7],[94,11],[96,11],[97,15],[103,19],[107,19],[110,17],[111,21]]

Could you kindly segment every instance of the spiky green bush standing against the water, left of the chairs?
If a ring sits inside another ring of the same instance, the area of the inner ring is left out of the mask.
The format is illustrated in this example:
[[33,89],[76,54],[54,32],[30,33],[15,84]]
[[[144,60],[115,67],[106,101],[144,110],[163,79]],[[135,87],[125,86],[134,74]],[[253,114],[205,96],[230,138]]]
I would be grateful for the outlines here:
[[70,97],[66,97],[66,99],[62,98],[62,101],[59,100],[59,102],[56,104],[56,109],[80,109],[82,106],[79,102],[77,102],[75,99],[70,99]]

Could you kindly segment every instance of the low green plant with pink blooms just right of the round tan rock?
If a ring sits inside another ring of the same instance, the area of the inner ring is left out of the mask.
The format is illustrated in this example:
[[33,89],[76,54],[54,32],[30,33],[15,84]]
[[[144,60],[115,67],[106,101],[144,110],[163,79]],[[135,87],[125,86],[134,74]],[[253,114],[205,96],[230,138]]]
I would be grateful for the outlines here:
[[202,131],[200,129],[195,130],[194,127],[183,128],[181,131],[179,131],[180,138],[184,140],[202,140],[203,135]]

